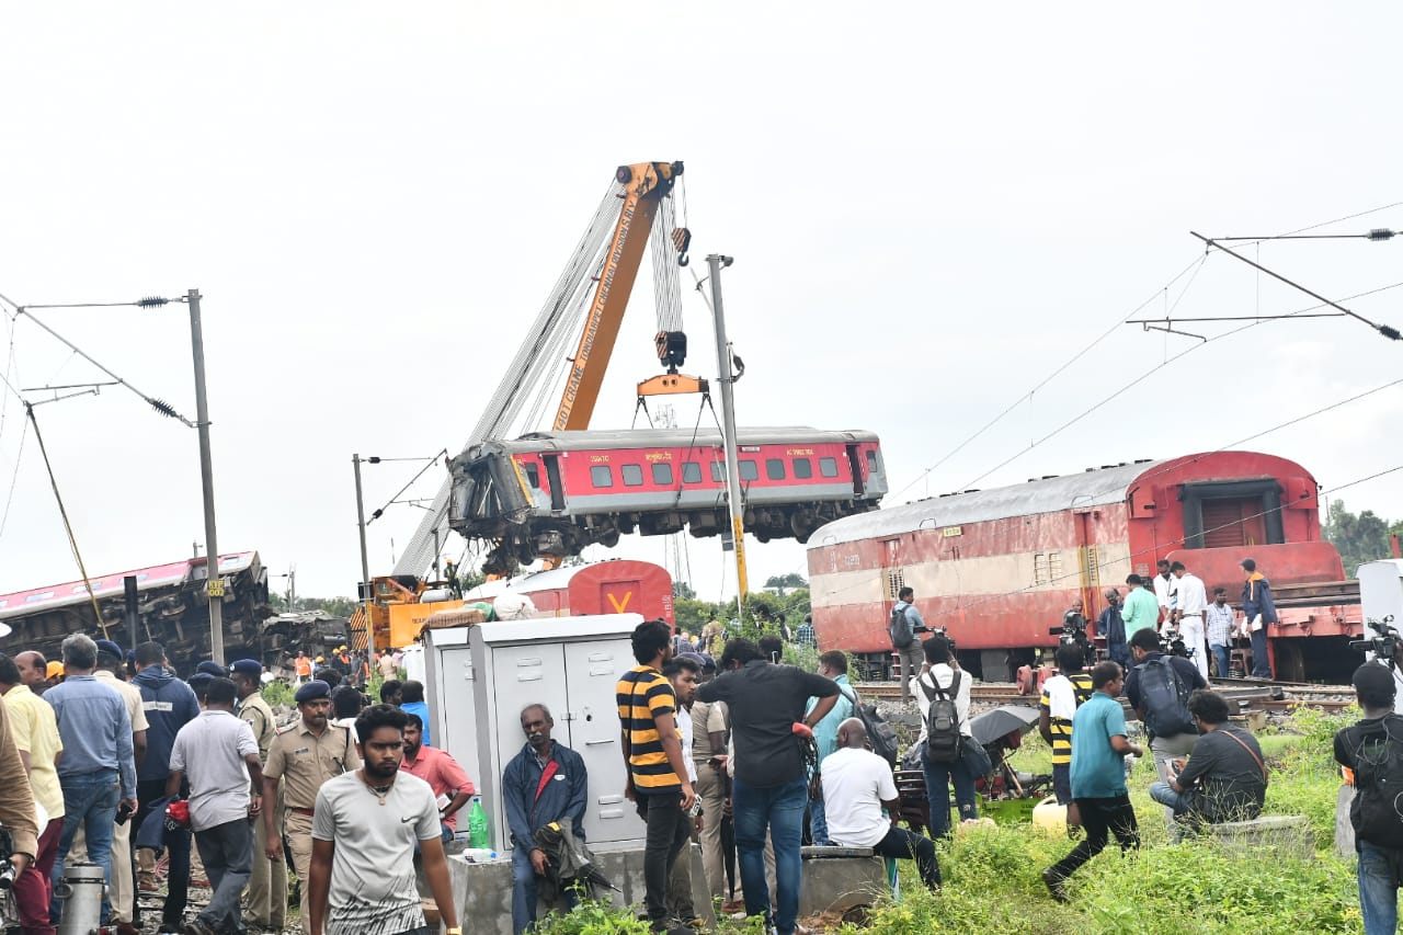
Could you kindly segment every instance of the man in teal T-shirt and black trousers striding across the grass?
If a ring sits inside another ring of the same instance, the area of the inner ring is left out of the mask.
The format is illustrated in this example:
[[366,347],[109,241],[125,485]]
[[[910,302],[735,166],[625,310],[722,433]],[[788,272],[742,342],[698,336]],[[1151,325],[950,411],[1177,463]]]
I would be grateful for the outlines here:
[[1066,877],[1106,848],[1114,831],[1121,851],[1139,847],[1135,809],[1125,790],[1125,754],[1145,750],[1125,738],[1125,710],[1115,696],[1125,677],[1117,663],[1092,670],[1092,698],[1072,717],[1072,804],[1080,813],[1086,837],[1076,848],[1042,870],[1042,882],[1059,903],[1066,901]]

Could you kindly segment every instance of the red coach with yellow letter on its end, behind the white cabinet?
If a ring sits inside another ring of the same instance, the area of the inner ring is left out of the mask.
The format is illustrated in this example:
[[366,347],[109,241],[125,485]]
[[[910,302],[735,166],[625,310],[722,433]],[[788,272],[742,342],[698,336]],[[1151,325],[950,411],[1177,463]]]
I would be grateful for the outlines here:
[[675,622],[672,576],[651,562],[615,559],[498,578],[473,588],[463,599],[495,601],[502,594],[529,597],[537,616],[643,614],[650,621]]

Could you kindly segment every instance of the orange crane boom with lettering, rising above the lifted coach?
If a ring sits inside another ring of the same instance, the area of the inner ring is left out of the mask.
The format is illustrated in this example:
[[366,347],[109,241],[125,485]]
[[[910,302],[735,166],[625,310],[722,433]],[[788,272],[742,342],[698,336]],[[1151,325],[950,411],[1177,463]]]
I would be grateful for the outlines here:
[[619,326],[623,324],[633,281],[638,277],[643,251],[648,246],[658,202],[672,191],[680,174],[682,163],[637,163],[620,166],[615,175],[624,187],[623,206],[605,254],[593,302],[589,303],[589,317],[579,334],[579,347],[560,394],[554,423],[557,432],[589,428],[589,417],[593,416],[599,386],[609,369],[609,357],[613,354],[615,338],[619,337]]

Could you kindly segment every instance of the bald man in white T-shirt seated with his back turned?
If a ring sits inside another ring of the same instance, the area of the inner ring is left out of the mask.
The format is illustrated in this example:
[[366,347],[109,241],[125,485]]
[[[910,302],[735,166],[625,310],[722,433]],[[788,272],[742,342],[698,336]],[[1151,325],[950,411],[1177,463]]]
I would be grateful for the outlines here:
[[[824,757],[824,810],[828,837],[840,847],[871,848],[874,854],[916,862],[922,882],[940,889],[936,845],[923,835],[897,827],[901,800],[891,765],[867,750],[867,729],[849,717],[838,726],[838,750]],[[887,809],[887,814],[882,814]]]

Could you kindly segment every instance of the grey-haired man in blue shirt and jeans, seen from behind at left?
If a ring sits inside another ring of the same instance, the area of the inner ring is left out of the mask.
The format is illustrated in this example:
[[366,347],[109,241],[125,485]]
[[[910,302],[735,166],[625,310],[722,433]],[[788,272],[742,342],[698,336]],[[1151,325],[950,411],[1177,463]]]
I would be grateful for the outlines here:
[[[52,882],[58,887],[63,861],[73,847],[79,825],[87,831],[88,859],[112,882],[112,827],[118,809],[136,811],[136,761],[132,755],[132,719],[116,689],[93,677],[97,643],[83,633],[63,640],[63,668],[67,677],[43,692],[53,706],[63,740],[59,785],[63,788],[63,831],[53,861]],[[128,859],[121,855],[119,859]],[[58,922],[62,900],[55,897],[49,915]],[[102,897],[102,918],[109,911]]]

